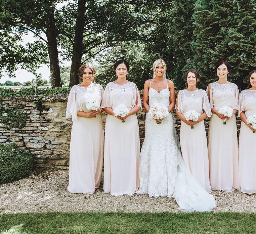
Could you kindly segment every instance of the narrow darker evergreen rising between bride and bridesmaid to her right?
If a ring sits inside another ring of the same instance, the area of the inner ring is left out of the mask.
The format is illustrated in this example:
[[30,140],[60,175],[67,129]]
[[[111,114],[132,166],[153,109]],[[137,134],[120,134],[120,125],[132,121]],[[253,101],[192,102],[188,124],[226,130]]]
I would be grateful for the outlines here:
[[184,88],[184,74],[188,68],[186,64],[191,59],[194,3],[195,0],[172,1],[168,15],[166,54],[171,65],[169,73],[177,89]]

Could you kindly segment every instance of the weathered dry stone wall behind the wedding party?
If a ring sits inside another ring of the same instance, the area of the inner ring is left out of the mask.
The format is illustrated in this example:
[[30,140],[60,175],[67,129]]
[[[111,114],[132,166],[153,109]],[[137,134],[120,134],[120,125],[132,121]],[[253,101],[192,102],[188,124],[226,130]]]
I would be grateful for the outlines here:
[[[0,123],[0,143],[14,143],[18,147],[30,151],[36,159],[37,167],[68,169],[69,147],[72,121],[66,119],[68,94],[56,94],[43,98],[42,107],[33,103],[37,97],[7,97],[0,98],[3,107],[15,107],[26,113],[26,126],[23,128],[8,128]],[[142,98],[142,95],[141,95]],[[145,135],[145,110],[137,113],[140,133],[140,146]],[[105,124],[106,114],[103,114]],[[180,120],[174,114],[177,132]],[[241,120],[237,118],[238,131]],[[209,118],[205,121],[208,133]]]

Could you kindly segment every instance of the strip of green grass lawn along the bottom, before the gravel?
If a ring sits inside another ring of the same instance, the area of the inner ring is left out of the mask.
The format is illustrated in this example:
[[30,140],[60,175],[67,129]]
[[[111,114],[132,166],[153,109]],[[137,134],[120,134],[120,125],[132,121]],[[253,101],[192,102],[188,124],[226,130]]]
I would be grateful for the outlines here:
[[[11,228],[12,230],[10,230]],[[228,212],[190,214],[97,212],[3,214],[0,215],[1,232],[12,234],[256,233],[256,214]]]

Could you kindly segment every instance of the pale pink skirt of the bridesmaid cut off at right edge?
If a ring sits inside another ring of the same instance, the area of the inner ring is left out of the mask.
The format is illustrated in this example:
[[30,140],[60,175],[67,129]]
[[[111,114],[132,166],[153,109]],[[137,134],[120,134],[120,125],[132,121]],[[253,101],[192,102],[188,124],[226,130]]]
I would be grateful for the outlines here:
[[256,133],[243,121],[239,135],[239,177],[241,192],[256,193]]

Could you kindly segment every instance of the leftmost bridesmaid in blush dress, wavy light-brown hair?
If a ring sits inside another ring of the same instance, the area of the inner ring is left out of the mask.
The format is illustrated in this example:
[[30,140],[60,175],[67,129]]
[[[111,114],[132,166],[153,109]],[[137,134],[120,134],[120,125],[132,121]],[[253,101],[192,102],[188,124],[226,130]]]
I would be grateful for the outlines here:
[[92,194],[99,187],[103,162],[103,124],[101,108],[90,111],[90,99],[101,102],[103,88],[92,80],[95,68],[87,63],[79,68],[83,82],[70,91],[66,118],[72,116],[70,141],[69,186],[70,193]]

